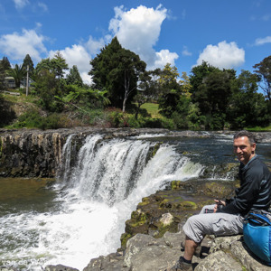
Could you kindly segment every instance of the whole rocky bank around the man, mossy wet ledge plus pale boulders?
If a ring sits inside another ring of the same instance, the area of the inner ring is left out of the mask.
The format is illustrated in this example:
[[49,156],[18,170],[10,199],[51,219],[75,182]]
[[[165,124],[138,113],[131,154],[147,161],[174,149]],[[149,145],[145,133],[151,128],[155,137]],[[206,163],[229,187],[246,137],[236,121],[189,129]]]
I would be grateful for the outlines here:
[[[210,203],[213,195],[229,197],[237,185],[237,182],[202,180],[171,182],[167,190],[156,192],[138,204],[131,220],[126,221],[126,234],[130,237],[126,243],[122,242],[122,248],[107,256],[91,259],[83,271],[162,271],[173,266],[183,255],[182,225],[187,218],[197,213],[202,205]],[[269,266],[250,254],[242,235],[207,236],[201,245],[201,257],[193,257],[192,261],[195,271],[270,270]],[[78,269],[58,265],[46,266],[45,270]]]

